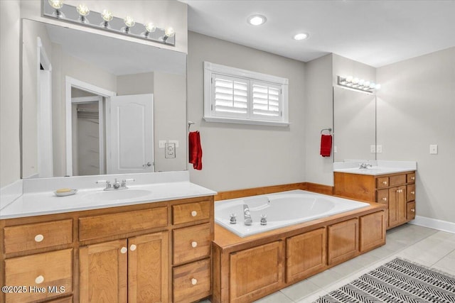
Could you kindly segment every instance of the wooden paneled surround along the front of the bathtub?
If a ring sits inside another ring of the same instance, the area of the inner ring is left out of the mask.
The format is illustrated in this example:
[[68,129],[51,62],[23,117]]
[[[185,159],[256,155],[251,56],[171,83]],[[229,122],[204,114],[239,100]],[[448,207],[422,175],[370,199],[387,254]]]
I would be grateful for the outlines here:
[[384,204],[241,238],[215,224],[212,302],[251,302],[385,244]]

